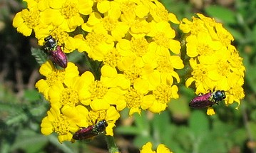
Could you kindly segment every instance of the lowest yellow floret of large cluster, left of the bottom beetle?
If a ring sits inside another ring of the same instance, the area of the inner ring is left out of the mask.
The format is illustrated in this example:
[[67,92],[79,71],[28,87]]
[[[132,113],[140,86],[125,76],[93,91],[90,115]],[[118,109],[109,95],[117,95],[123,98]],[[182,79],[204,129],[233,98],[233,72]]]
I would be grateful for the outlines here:
[[88,111],[86,107],[63,107],[62,110],[61,113],[54,105],[48,110],[47,116],[41,122],[41,132],[45,135],[57,132],[59,142],[71,141],[78,126],[88,126]]

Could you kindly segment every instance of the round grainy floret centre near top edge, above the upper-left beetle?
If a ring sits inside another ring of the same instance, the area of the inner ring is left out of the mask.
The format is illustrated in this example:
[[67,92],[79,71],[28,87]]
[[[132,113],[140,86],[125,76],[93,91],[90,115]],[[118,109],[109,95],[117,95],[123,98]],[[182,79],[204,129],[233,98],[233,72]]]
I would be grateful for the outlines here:
[[66,2],[63,4],[61,9],[61,14],[65,19],[71,19],[73,16],[76,16],[79,13],[78,6],[71,2]]

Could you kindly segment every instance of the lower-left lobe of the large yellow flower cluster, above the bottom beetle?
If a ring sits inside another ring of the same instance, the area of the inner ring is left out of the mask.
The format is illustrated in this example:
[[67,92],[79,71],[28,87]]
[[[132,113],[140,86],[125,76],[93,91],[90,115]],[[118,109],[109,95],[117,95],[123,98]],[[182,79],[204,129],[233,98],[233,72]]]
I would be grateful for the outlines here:
[[41,65],[39,72],[46,79],[39,80],[36,88],[51,103],[51,109],[41,123],[43,134],[56,132],[60,142],[74,141],[73,133],[81,127],[106,120],[106,134],[113,135],[113,127],[120,115],[111,104],[118,102],[119,90],[114,87],[108,90],[108,83],[95,80],[91,72],[78,75],[78,68],[73,63],[58,70],[48,61]]

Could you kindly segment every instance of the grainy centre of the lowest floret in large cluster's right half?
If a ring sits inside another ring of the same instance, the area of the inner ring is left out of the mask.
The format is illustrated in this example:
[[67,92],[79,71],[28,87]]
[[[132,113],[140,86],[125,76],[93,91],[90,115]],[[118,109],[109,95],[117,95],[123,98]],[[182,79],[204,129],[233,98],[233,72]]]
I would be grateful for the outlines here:
[[140,95],[135,89],[130,88],[128,90],[128,93],[125,95],[127,107],[140,107],[140,104],[142,102],[143,95]]

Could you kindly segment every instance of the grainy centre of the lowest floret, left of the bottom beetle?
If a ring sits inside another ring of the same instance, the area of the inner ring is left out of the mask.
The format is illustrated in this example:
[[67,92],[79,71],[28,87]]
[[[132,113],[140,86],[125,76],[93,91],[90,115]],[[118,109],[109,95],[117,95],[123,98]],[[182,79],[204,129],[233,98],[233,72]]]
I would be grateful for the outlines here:
[[59,135],[67,134],[69,132],[69,122],[64,115],[59,115],[54,122],[52,122],[53,129]]

